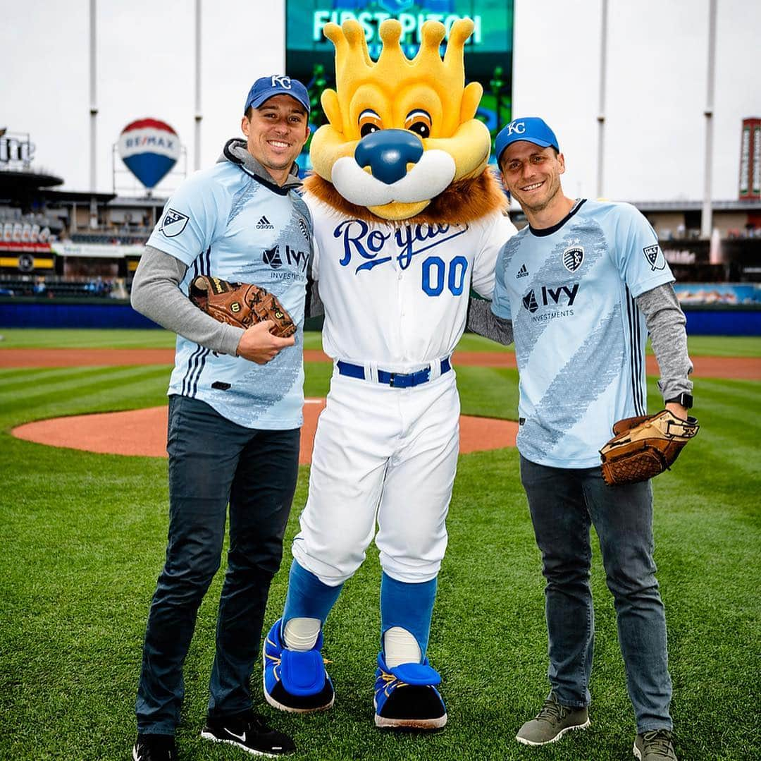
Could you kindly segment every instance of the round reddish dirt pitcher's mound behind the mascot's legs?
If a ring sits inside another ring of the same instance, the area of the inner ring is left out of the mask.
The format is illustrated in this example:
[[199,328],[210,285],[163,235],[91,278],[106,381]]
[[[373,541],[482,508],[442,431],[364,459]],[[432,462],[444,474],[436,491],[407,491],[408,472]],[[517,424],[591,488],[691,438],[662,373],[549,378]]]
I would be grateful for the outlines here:
[[[310,462],[317,417],[324,399],[307,399],[301,427],[301,463]],[[460,453],[515,446],[512,420],[460,416]],[[113,455],[167,456],[167,407],[37,420],[14,428],[19,439]]]

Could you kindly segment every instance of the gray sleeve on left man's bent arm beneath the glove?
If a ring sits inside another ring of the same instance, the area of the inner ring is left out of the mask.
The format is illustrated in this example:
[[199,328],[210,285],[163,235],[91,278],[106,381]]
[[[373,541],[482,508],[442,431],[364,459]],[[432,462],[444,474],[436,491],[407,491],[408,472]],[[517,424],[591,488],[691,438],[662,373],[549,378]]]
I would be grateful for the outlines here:
[[243,328],[218,322],[193,305],[179,287],[186,271],[177,257],[146,246],[132,280],[132,309],[188,341],[234,357]]

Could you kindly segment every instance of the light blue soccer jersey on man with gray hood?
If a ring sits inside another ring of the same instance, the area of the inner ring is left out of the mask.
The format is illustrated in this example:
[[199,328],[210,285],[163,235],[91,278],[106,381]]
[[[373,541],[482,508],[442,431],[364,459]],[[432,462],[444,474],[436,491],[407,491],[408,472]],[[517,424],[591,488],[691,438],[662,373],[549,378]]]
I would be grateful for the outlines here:
[[196,172],[174,193],[148,245],[188,266],[183,292],[198,275],[263,286],[280,299],[298,332],[296,344],[265,365],[215,353],[178,335],[169,394],[205,401],[247,428],[301,426],[311,226],[295,191],[263,182],[231,161]]

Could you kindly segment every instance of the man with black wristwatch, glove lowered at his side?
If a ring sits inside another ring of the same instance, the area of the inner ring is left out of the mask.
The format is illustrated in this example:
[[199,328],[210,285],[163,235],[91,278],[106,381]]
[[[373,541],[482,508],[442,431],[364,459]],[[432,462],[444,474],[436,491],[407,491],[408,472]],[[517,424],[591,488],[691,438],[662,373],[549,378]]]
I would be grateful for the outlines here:
[[666,407],[686,418],[692,406],[686,320],[673,276],[633,206],[565,196],[565,158],[543,120],[512,121],[496,151],[505,186],[528,220],[500,253],[492,312],[514,334],[517,448],[546,577],[551,685],[517,740],[543,745],[590,724],[594,525],[635,710],[634,754],[676,759],[651,484],[607,486],[599,454],[616,420],[646,413],[648,332]]

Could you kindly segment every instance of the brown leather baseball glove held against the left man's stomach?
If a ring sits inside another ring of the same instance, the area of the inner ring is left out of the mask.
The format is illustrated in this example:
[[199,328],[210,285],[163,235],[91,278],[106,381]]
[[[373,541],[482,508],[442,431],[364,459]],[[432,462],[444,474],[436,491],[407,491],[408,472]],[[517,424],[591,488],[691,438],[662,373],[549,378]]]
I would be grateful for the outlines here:
[[190,300],[215,320],[237,328],[272,320],[270,333],[288,338],[296,332],[291,315],[268,290],[247,283],[228,283],[218,277],[199,275],[190,283]]

